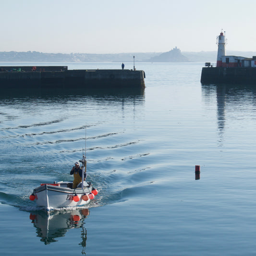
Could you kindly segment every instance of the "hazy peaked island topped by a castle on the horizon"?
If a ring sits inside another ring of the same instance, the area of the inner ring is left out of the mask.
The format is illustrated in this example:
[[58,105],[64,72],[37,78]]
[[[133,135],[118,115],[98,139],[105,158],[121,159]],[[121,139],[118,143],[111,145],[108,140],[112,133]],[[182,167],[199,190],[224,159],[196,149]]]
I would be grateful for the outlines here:
[[177,47],[168,52],[164,52],[158,56],[150,58],[150,62],[188,62],[188,58],[183,56],[181,50]]

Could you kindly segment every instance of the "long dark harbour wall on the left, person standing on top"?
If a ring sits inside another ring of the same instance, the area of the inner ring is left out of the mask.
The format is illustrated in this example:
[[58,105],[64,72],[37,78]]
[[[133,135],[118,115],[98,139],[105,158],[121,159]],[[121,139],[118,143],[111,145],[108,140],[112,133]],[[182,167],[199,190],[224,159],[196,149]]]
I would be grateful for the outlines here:
[[145,88],[145,77],[142,70],[0,67],[0,88]]

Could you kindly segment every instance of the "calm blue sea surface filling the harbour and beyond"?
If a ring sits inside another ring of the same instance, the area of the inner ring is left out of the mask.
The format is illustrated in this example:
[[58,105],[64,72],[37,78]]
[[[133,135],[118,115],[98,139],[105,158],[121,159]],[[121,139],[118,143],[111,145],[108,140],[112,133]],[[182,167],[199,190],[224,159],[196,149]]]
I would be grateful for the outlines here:
[[[0,94],[0,255],[256,255],[256,87],[201,85],[202,63],[135,66],[143,92]],[[99,193],[47,215],[29,195],[73,179],[85,126]]]

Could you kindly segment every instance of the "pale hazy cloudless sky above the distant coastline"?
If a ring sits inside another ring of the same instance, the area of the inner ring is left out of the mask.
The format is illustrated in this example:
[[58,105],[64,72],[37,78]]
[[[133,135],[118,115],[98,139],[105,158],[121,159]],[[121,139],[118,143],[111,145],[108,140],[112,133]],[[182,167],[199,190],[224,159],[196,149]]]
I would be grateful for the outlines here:
[[256,51],[256,0],[0,0],[0,51]]

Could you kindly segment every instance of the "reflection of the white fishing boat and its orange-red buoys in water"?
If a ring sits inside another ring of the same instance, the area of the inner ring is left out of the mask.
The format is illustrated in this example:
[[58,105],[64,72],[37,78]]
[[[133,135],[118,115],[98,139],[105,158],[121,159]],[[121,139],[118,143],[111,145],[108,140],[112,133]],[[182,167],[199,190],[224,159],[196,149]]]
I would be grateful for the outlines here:
[[82,242],[85,251],[86,246],[86,229],[84,228],[84,220],[89,215],[89,209],[68,210],[63,212],[55,212],[48,214],[44,211],[30,213],[29,219],[34,223],[37,229],[37,236],[41,237],[40,241],[44,244],[57,242],[56,238],[65,236],[69,229],[82,229]]

